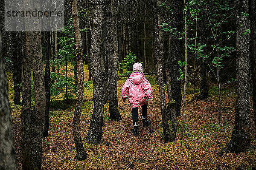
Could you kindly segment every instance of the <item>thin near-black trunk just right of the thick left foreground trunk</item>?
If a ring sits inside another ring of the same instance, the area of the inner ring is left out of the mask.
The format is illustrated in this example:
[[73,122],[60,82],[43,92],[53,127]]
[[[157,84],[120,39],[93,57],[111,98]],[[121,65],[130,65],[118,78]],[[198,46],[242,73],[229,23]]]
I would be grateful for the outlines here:
[[44,66],[44,84],[45,84],[45,113],[44,113],[44,131],[43,137],[48,136],[49,131],[49,109],[50,109],[50,94],[51,94],[51,75],[50,75],[50,35],[47,31],[44,37],[45,45],[45,66]]

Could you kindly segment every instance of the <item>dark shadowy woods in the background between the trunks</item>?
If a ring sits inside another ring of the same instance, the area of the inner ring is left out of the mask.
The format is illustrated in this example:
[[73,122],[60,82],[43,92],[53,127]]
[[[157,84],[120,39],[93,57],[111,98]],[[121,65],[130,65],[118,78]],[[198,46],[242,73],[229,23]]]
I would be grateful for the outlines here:
[[[78,0],[78,11],[79,14],[79,23],[80,28],[86,31],[81,32],[81,38],[83,43],[83,53],[85,55],[84,62],[85,64],[88,63],[90,58],[90,46],[91,46],[91,31],[93,27],[93,3],[87,0]],[[197,16],[197,31],[198,31],[198,38],[200,36],[199,31],[204,31],[205,37],[205,44],[206,47],[204,48],[204,54],[211,54],[207,59],[209,64],[212,64],[212,58],[216,56],[216,51],[212,50],[212,45],[215,45],[215,39],[212,36],[212,29],[211,26],[214,27],[214,24],[221,23],[218,26],[219,29],[219,40],[224,40],[219,46],[220,47],[236,47],[236,35],[235,33],[230,36],[229,39],[225,40],[226,34],[228,31],[235,31],[236,22],[234,18],[234,2],[233,0],[218,0],[218,1],[195,1],[194,4],[189,4],[188,8],[192,8],[192,10],[199,10]],[[2,3],[0,11],[3,11],[4,5],[3,0],[0,1]],[[162,5],[161,5],[162,4]],[[178,24],[182,27],[182,32],[184,32],[184,21],[183,21],[183,14],[178,17],[181,23],[175,23],[173,19],[177,17],[177,13],[175,13],[175,8],[179,8],[179,3],[176,1],[168,0],[159,0],[159,13],[162,14],[162,22],[159,22],[161,25],[165,23],[166,25],[160,28],[167,28],[168,26],[174,28],[174,24]],[[172,9],[173,7],[174,10]],[[183,7],[183,3],[181,5]],[[104,8],[104,7],[103,7]],[[65,0],[65,26],[72,25],[72,22],[69,22],[70,18],[72,17],[72,8],[71,8],[71,1]],[[208,10],[208,11],[207,11]],[[207,12],[206,12],[207,11]],[[103,13],[105,14],[105,10],[103,9]],[[207,17],[208,13],[208,17]],[[191,11],[188,11],[188,37],[191,38],[189,43],[194,44],[196,37],[196,30],[195,30],[195,21],[196,17],[195,14],[192,14]],[[209,23],[211,21],[211,24]],[[1,30],[4,30],[3,26],[3,15],[0,18],[1,21]],[[103,22],[106,22],[103,20]],[[122,62],[122,59],[126,57],[129,51],[133,52],[136,56],[136,62],[143,62],[143,69],[144,73],[151,73],[155,72],[155,59],[154,59],[154,46],[153,46],[153,18],[152,18],[152,9],[151,9],[151,1],[139,1],[139,0],[119,0],[117,4],[117,26],[118,26],[118,49],[119,49],[119,62]],[[201,29],[201,30],[200,30]],[[103,28],[103,35],[106,29]],[[170,61],[170,57],[172,56],[172,36],[173,34],[170,31],[163,31],[160,30],[163,34],[163,59],[164,64],[167,65],[168,61]],[[223,33],[223,34],[221,34]],[[17,74],[21,73],[19,70],[20,68],[17,65],[12,65],[12,62],[9,61],[16,61],[20,59],[22,54],[22,41],[24,41],[24,34],[23,33],[12,33],[12,32],[3,32],[3,44],[5,47],[6,52],[6,69],[11,71],[12,68],[17,70]],[[51,45],[51,53],[50,59],[55,58],[55,46],[56,46],[56,38],[58,41],[58,49],[61,49],[59,37],[67,36],[62,32],[58,32],[57,35],[55,32],[50,33],[50,45]],[[215,33],[214,33],[215,34]],[[70,36],[70,35],[68,35]],[[74,35],[73,35],[74,36]],[[45,59],[44,53],[44,38],[42,36],[42,45],[43,45],[43,57]],[[102,37],[102,48],[104,48],[104,40],[106,36]],[[184,39],[181,40],[180,46],[176,46],[176,48],[180,49],[173,49],[173,50],[180,50],[181,61],[184,61]],[[8,42],[8,43],[6,43]],[[75,40],[73,40],[75,42]],[[8,53],[7,53],[8,51]],[[12,53],[14,55],[12,55]],[[230,53],[229,57],[223,58],[223,65],[224,68],[220,71],[220,80],[221,82],[226,82],[230,80],[230,78],[236,78],[236,53]],[[14,57],[10,57],[14,56]],[[17,57],[15,57],[17,56]],[[102,64],[104,63],[104,53],[102,52]],[[58,57],[61,57],[58,55]],[[18,63],[18,62],[13,62]],[[188,72],[191,72],[192,69],[201,65],[200,59],[196,59],[193,52],[188,53]],[[122,65],[120,66],[119,72],[122,73]],[[16,69],[17,68],[17,69]],[[102,69],[104,67],[101,67]],[[199,72],[200,67],[195,72]],[[212,80],[215,80],[210,68],[207,66],[206,72],[208,73],[207,76],[210,77]],[[20,77],[20,76],[19,76]],[[195,79],[199,80],[198,77]],[[19,81],[19,80],[17,80]],[[199,85],[199,83],[197,83]]]

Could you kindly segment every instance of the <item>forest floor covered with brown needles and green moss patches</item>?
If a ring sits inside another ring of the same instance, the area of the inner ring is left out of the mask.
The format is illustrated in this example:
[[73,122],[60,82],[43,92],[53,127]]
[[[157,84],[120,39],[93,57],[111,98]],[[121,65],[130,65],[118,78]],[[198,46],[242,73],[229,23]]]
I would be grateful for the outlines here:
[[[88,71],[85,69],[85,80]],[[20,130],[21,106],[14,105],[12,77],[9,75],[9,97],[12,108],[12,128],[18,169],[21,169]],[[186,124],[183,140],[180,140],[182,117],[178,117],[178,132],[175,142],[164,143],[161,127],[161,113],[158,85],[154,77],[147,77],[154,91],[154,103],[148,105],[149,127],[142,127],[139,118],[139,136],[133,136],[131,108],[128,102],[121,99],[121,88],[125,79],[118,81],[119,111],[122,120],[114,122],[109,119],[108,104],[105,105],[102,143],[92,145],[85,141],[90,119],[93,113],[93,89],[84,90],[84,102],[81,113],[81,137],[87,151],[85,161],[74,161],[76,156],[72,133],[75,100],[70,104],[65,101],[51,102],[49,136],[43,139],[43,170],[234,170],[239,165],[247,169],[256,166],[256,142],[254,133],[252,100],[250,99],[251,147],[245,153],[224,153],[219,158],[218,150],[229,142],[234,128],[236,95],[223,100],[221,124],[218,125],[217,84],[210,83],[209,97],[204,101],[197,100],[186,104]],[[225,86],[223,96],[234,92],[235,84]],[[195,89],[198,91],[198,89]],[[188,101],[194,93],[188,88]],[[166,101],[168,101],[166,95]],[[141,109],[139,110],[141,116]],[[182,108],[180,110],[182,112]]]

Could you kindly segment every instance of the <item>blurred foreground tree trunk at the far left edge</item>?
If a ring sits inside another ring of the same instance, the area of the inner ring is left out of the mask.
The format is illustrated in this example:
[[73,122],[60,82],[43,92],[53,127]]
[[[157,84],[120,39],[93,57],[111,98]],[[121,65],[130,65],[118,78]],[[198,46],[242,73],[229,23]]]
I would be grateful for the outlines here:
[[8,82],[3,63],[3,44],[0,32],[0,169],[16,170],[17,161],[13,144],[11,109],[8,95]]

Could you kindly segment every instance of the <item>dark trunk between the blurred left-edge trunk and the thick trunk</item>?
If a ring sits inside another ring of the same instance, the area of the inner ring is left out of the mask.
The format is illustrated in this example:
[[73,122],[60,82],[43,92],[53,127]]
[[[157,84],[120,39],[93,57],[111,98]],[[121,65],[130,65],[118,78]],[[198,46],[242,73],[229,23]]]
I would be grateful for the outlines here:
[[12,54],[12,75],[14,85],[14,104],[20,105],[20,83],[21,83],[21,58],[22,58],[22,32],[12,32],[13,54]]

